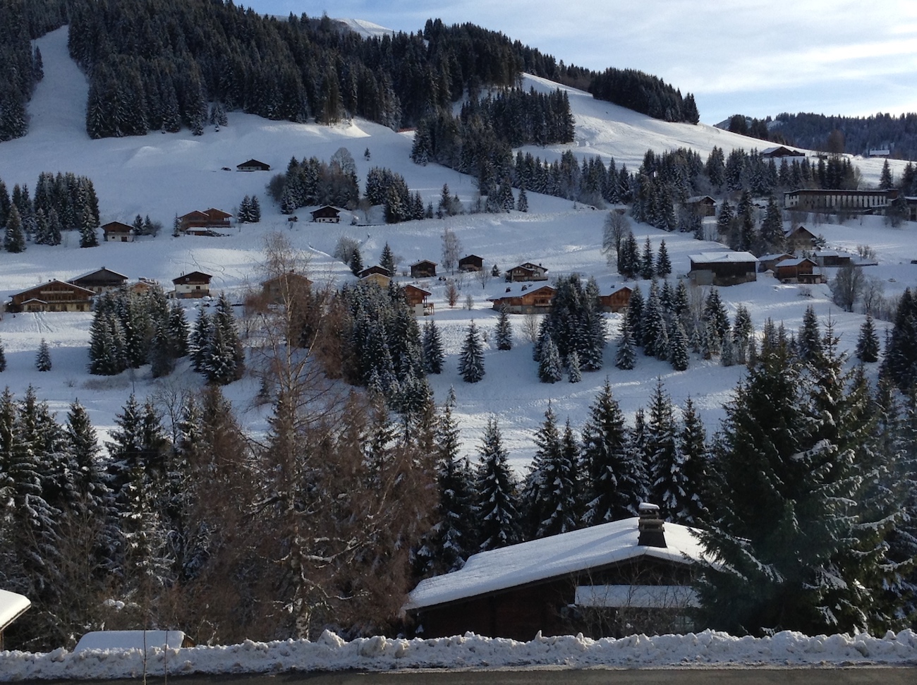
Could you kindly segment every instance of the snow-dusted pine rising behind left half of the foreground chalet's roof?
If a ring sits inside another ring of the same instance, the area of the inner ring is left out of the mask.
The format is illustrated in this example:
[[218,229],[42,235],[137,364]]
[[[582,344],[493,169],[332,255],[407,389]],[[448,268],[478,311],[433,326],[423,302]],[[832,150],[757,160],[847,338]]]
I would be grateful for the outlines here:
[[487,420],[475,478],[476,511],[480,525],[479,550],[498,549],[520,542],[519,495],[507,462],[503,437],[494,417]]

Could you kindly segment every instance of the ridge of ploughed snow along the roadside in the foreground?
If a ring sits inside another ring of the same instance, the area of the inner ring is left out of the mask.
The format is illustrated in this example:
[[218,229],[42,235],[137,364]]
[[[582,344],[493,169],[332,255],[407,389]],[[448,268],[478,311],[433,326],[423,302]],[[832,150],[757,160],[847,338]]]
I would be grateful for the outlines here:
[[[345,642],[326,631],[315,642],[251,642],[233,646],[154,649],[148,675],[276,673],[286,670],[395,670],[399,668],[724,668],[730,666],[913,666],[917,633],[817,635],[786,631],[773,637],[733,637],[704,631],[688,635],[632,635],[591,640],[582,635],[531,642],[464,636],[435,640],[376,636]],[[0,681],[20,679],[134,678],[143,673],[138,649],[57,649],[48,654],[0,653]]]

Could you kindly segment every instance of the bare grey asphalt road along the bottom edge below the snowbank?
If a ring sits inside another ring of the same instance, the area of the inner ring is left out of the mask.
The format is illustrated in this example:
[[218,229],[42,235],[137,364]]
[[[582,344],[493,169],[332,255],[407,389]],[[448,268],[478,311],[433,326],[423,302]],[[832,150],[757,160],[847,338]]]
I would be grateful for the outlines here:
[[[22,682],[22,681],[20,681]],[[36,680],[35,685],[79,685],[87,680]],[[105,685],[137,685],[140,679],[102,680]],[[149,685],[163,679],[149,677]],[[279,673],[171,677],[174,685],[915,685],[913,668],[717,668],[578,670],[417,670],[387,673]]]

